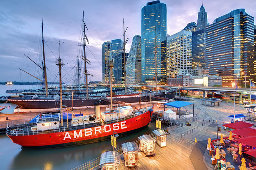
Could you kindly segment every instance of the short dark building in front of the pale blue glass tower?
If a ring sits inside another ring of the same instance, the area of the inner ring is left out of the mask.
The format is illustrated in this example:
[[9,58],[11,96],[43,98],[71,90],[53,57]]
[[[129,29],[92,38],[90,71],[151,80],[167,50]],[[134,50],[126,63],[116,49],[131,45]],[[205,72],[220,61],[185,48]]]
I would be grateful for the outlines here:
[[[129,53],[125,53],[126,61]],[[123,52],[114,56],[114,83],[124,84],[124,55]]]

